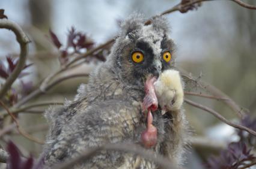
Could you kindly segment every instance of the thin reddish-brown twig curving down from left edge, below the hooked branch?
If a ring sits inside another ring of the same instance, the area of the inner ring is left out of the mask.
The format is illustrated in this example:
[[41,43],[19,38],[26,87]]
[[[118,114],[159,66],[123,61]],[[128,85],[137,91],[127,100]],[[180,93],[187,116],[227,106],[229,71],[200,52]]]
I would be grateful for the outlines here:
[[8,109],[8,107],[4,104],[4,102],[0,101],[0,104],[2,105],[2,107],[4,107],[4,109],[8,112],[8,114],[10,114],[11,118],[13,119],[14,123],[16,123],[17,126],[17,130],[19,131],[19,133],[21,135],[23,135],[25,138],[28,138],[31,141],[34,141],[35,143],[38,144],[44,144],[44,141],[39,140],[38,138],[32,137],[32,135],[29,135],[28,133],[26,133],[26,131],[24,131],[22,129],[22,127],[19,125],[19,122],[17,121],[16,117],[11,113],[11,111]]

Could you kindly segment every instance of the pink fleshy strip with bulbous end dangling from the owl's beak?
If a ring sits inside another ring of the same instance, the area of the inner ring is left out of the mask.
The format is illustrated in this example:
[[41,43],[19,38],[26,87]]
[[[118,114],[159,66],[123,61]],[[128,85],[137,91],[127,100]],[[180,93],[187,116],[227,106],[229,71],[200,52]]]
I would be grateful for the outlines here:
[[145,147],[150,148],[157,142],[157,129],[152,125],[153,116],[151,111],[156,111],[158,107],[158,101],[156,93],[154,92],[154,82],[156,77],[148,77],[145,82],[145,97],[142,104],[142,110],[148,110],[147,114],[147,129],[141,134],[141,141]]

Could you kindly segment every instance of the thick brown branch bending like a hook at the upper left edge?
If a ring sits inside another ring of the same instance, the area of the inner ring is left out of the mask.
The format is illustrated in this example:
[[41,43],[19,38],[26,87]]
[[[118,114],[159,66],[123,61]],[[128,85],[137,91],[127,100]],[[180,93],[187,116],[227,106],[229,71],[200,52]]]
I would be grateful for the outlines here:
[[26,62],[26,56],[28,55],[28,43],[29,38],[22,31],[19,25],[14,22],[11,22],[7,19],[0,19],[0,29],[9,29],[14,32],[16,35],[17,42],[20,44],[20,57],[17,66],[14,68],[13,73],[10,74],[8,79],[5,81],[4,85],[0,89],[0,99],[5,95],[5,93],[10,89],[13,82],[17,79],[20,72],[23,70]]

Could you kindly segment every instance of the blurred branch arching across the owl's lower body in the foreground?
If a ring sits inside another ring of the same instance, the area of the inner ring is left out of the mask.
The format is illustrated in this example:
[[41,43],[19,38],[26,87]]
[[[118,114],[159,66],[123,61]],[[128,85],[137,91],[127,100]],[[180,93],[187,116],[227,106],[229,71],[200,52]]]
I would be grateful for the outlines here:
[[70,159],[70,161],[55,165],[52,168],[56,168],[56,169],[71,168],[73,165],[78,164],[79,162],[85,162],[86,160],[92,158],[94,155],[96,155],[102,150],[114,150],[114,151],[120,151],[120,152],[133,153],[135,155],[139,155],[142,158],[147,159],[148,161],[154,162],[155,164],[159,165],[162,168],[177,168],[171,162],[171,159],[166,159],[162,155],[156,155],[156,153],[153,152],[152,150],[146,150],[136,144],[120,144],[120,143],[115,143],[115,144],[109,143],[103,146],[87,149],[84,153],[81,153],[81,155],[78,156],[77,158]]

